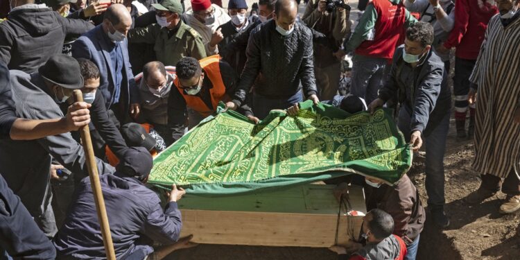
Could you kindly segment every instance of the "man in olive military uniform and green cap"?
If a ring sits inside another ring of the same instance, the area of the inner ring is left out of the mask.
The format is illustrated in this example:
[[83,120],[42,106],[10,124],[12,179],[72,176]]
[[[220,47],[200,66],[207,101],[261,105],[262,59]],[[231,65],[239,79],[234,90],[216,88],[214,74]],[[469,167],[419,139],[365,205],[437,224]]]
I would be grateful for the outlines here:
[[159,62],[174,66],[181,58],[206,58],[202,37],[181,19],[182,6],[179,0],[164,0],[153,4],[157,24],[135,28],[128,33],[130,43],[154,44]]

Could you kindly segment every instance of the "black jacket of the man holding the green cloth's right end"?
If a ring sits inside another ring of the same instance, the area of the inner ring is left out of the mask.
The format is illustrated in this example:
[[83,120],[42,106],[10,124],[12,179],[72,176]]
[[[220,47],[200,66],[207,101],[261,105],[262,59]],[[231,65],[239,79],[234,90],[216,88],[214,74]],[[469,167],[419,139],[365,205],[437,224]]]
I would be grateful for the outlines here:
[[404,45],[397,47],[392,69],[379,98],[388,101],[399,95],[399,103],[412,115],[410,131],[428,135],[451,110],[451,91],[444,62],[433,51],[413,68],[404,62]]

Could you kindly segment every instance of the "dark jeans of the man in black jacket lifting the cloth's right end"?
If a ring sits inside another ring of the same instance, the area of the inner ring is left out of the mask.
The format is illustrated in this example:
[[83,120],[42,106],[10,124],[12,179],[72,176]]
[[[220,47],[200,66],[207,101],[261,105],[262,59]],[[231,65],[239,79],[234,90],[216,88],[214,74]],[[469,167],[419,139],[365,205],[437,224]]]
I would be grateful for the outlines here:
[[[435,128],[422,136],[423,146],[426,147],[426,193],[428,194],[428,206],[442,207],[444,200],[444,152],[446,151],[446,139],[449,130],[449,116],[447,113]],[[410,140],[411,113],[405,105],[399,111],[397,125],[403,132],[406,141]],[[429,122],[428,122],[429,123]],[[428,125],[429,127],[429,125]]]

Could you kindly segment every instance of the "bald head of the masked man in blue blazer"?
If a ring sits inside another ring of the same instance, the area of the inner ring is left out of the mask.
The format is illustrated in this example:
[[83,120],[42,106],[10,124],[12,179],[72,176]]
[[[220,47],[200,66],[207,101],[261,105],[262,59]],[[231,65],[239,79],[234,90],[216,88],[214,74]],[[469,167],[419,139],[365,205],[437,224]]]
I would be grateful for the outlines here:
[[128,8],[121,3],[114,3],[107,8],[103,18],[103,30],[107,33],[119,31],[123,33],[123,35],[126,35],[132,26],[130,12],[128,12]]

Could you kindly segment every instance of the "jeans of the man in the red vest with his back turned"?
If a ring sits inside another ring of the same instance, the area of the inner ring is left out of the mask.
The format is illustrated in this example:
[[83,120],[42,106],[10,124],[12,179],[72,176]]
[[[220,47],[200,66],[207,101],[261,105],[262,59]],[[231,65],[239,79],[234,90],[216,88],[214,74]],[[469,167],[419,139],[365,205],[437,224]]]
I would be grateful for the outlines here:
[[352,66],[350,94],[365,98],[370,104],[377,98],[387,72],[387,60],[355,55]]

